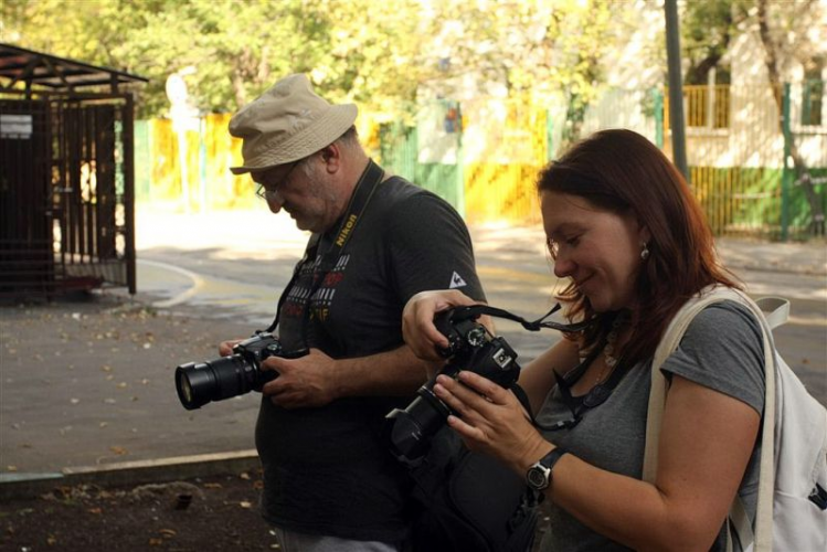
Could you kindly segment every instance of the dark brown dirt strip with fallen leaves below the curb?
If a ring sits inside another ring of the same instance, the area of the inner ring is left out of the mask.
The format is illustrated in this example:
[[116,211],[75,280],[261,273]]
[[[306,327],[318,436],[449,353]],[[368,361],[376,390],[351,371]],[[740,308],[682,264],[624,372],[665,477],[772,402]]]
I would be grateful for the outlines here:
[[259,474],[131,488],[57,487],[0,505],[9,552],[278,550],[257,511]]

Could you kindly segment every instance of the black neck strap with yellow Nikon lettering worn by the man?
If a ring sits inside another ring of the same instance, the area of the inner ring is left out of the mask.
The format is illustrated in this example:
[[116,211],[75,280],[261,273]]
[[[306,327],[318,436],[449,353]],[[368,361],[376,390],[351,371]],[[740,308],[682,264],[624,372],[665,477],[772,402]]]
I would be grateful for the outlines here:
[[[372,159],[369,160],[368,167],[364,168],[362,176],[359,177],[359,181],[357,182],[353,194],[350,197],[348,208],[346,209],[344,214],[341,217],[341,222],[339,223],[339,229],[335,234],[336,237],[321,254],[318,264],[314,268],[312,285],[310,287],[310,291],[307,294],[307,302],[305,304],[301,315],[301,339],[303,341],[305,341],[305,344],[307,344],[307,325],[310,320],[310,301],[312,300],[312,296],[316,294],[316,291],[318,291],[319,287],[321,287],[321,284],[325,282],[325,277],[327,276],[327,274],[339,263],[339,259],[344,252],[344,247],[353,236],[357,224],[364,214],[364,211],[368,208],[368,203],[370,203],[371,198],[373,198],[373,193],[377,191],[377,188],[382,182],[383,178],[384,171],[382,170],[382,168],[373,162]],[[301,273],[301,268],[308,262],[312,263],[316,258],[318,258],[321,238],[322,234],[317,232],[314,233],[310,236],[310,240],[307,242],[305,255],[301,257],[301,261],[296,264],[290,280],[287,283],[284,291],[282,291],[282,296],[278,298],[278,305],[276,306],[276,316],[273,319],[273,322],[267,328],[267,332],[272,333],[278,327],[278,320],[282,315],[282,307],[287,300],[287,297],[290,295],[291,288],[296,285],[296,280]]]

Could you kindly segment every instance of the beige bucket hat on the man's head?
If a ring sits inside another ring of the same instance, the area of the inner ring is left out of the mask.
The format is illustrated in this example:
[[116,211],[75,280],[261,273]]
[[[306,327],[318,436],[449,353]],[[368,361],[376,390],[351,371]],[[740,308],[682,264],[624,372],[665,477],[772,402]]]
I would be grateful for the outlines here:
[[243,139],[244,164],[234,174],[289,163],[329,146],[356,120],[353,104],[330,105],[306,75],[289,75],[230,119],[230,134]]

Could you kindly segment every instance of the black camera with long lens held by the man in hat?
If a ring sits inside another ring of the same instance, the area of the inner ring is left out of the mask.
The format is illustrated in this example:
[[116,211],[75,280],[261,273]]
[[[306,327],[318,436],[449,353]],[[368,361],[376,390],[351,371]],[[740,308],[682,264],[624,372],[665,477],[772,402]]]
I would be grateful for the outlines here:
[[269,357],[297,359],[307,350],[286,352],[272,333],[257,333],[233,347],[233,354],[202,363],[188,362],[176,368],[178,399],[187,410],[200,408],[211,401],[222,401],[251,391],[262,391],[278,372],[262,370]]

